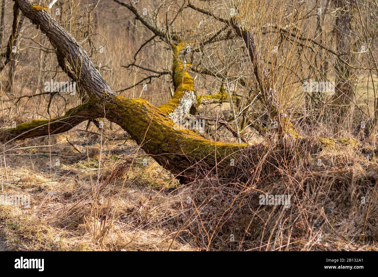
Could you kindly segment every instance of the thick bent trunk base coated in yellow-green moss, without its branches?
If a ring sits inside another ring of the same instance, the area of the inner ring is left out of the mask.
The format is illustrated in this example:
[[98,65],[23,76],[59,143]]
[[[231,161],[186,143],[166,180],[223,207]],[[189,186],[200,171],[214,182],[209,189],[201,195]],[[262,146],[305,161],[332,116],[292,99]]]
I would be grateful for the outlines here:
[[[191,130],[175,129],[174,122],[148,101],[117,97],[113,103],[106,103],[105,109],[109,120],[124,128],[148,154],[173,173],[180,173],[201,160],[208,167],[215,165],[214,141]],[[247,147],[247,144],[217,142],[217,161]],[[223,163],[229,164],[229,159]]]

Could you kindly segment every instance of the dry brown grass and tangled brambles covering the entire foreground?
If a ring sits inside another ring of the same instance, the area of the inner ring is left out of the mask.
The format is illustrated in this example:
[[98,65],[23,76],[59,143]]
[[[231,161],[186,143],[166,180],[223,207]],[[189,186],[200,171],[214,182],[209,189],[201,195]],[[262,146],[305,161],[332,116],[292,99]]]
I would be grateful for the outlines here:
[[[376,250],[377,191],[361,233],[378,164],[362,146],[316,153],[315,143],[272,141],[259,159],[245,153],[228,169],[240,178],[199,172],[180,185],[133,142],[103,139],[101,148],[97,135],[79,134],[68,139],[81,153],[55,138],[51,147],[6,152],[18,155],[6,156],[3,190],[31,195],[30,208],[0,206],[9,248]],[[59,153],[60,165],[46,153]],[[290,194],[291,207],[260,205],[261,194]]]

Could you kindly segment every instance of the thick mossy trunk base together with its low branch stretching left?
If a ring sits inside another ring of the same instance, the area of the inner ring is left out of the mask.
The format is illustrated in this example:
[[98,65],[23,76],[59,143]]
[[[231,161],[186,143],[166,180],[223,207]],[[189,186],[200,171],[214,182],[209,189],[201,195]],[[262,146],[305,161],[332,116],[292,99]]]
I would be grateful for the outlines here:
[[215,145],[214,141],[204,139],[191,130],[177,128],[172,119],[148,101],[119,96],[105,103],[100,99],[91,100],[57,119],[37,119],[19,124],[7,130],[7,138],[24,139],[62,133],[85,120],[104,116],[104,110],[108,120],[120,125],[160,165],[186,180],[195,174],[197,168],[209,170],[216,164],[224,168],[247,148],[257,151],[262,146],[222,142]]

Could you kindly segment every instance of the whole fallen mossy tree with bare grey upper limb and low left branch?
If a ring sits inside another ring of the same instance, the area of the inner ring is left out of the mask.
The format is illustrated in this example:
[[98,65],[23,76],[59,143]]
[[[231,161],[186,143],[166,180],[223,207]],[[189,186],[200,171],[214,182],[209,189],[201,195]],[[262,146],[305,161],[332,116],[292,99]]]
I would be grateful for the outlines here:
[[16,1],[24,15],[47,35],[57,49],[58,60],[65,61],[65,67],[84,87],[90,99],[61,118],[34,120],[8,128],[8,140],[66,132],[85,120],[104,116],[120,125],[160,165],[186,178],[192,176],[197,167],[227,166],[240,151],[261,148],[210,141],[172,120],[186,115],[197,101],[193,79],[178,59],[182,45],[178,44],[173,49],[175,94],[168,103],[158,108],[143,99],[117,96],[91,63],[85,50],[48,12],[35,8],[29,0]]

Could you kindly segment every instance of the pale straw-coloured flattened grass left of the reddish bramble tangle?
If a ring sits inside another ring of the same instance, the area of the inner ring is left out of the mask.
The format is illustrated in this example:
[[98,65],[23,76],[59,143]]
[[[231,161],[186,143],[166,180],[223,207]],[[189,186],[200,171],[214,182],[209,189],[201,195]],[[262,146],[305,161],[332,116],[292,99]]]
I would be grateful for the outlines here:
[[[69,144],[65,142],[61,146]],[[29,152],[43,153],[46,148],[36,151],[32,148]],[[88,148],[88,152],[98,149]],[[33,156],[33,159],[28,155],[7,157],[8,180],[4,176],[4,191],[8,195],[31,195],[30,208],[0,207],[2,230],[9,247],[26,250],[166,250],[172,240],[167,226],[183,212],[183,196],[169,193],[177,181],[162,172],[159,165],[143,153],[135,158],[135,164],[129,169],[128,159],[132,155],[117,161],[111,148],[115,148],[114,151],[119,148],[133,150],[136,145],[115,143],[102,149],[101,178],[105,186],[95,200],[92,188],[96,184],[98,160],[59,151],[70,157],[61,158],[59,167],[50,167],[50,157],[46,155]],[[107,151],[110,152],[104,153]],[[148,159],[147,166],[139,164],[143,163],[143,158]],[[54,163],[54,158],[52,160]],[[125,174],[127,180],[123,178]],[[103,230],[106,216],[113,217],[112,226],[106,236],[102,238],[100,235],[94,242],[95,228]],[[197,248],[175,242],[174,249]]]

